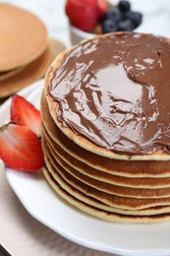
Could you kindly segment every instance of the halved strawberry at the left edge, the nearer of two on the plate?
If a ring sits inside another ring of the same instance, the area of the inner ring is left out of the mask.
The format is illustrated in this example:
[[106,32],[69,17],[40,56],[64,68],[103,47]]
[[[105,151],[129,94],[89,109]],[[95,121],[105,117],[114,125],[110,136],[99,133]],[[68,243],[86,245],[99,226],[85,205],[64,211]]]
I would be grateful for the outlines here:
[[10,122],[0,127],[0,159],[14,169],[38,170],[43,165],[41,143],[28,127]]

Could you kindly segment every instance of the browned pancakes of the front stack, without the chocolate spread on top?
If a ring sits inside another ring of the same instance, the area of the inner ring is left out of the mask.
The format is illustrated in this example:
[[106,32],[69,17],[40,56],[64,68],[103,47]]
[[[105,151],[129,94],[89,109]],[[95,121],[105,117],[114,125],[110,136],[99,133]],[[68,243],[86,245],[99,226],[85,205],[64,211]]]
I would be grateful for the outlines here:
[[120,155],[118,160],[114,153],[97,147],[58,120],[58,105],[49,95],[49,86],[65,54],[59,54],[50,66],[41,98],[43,173],[49,184],[71,205],[106,221],[169,220],[170,161],[165,160],[166,154],[140,156],[141,160],[128,160],[128,156],[126,160]]

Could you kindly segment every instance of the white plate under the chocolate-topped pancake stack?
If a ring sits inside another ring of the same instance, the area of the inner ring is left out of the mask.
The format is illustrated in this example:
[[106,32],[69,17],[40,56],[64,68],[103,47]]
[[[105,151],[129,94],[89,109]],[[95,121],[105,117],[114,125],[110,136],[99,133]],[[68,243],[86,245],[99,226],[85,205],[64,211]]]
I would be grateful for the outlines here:
[[[43,81],[20,92],[39,107]],[[9,120],[11,99],[0,107],[0,124]],[[170,222],[162,224],[112,224],[70,207],[48,186],[41,173],[6,168],[7,179],[28,210],[42,224],[71,241],[117,255],[170,255]]]

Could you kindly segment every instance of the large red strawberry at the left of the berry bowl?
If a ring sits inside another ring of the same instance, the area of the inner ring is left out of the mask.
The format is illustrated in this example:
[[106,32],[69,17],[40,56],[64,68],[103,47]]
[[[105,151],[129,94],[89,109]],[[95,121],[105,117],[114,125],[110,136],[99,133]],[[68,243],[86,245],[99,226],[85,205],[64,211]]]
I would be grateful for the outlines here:
[[67,0],[65,12],[76,28],[90,32],[97,23],[96,0]]

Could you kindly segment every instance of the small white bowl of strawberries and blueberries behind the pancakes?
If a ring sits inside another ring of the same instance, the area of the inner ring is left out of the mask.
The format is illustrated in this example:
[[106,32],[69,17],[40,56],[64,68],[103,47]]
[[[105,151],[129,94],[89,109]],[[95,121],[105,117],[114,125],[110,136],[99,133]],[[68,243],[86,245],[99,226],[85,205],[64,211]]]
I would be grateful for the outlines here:
[[67,0],[65,13],[72,44],[96,34],[136,31],[142,24],[142,13],[133,10],[128,0],[117,4],[107,0]]

